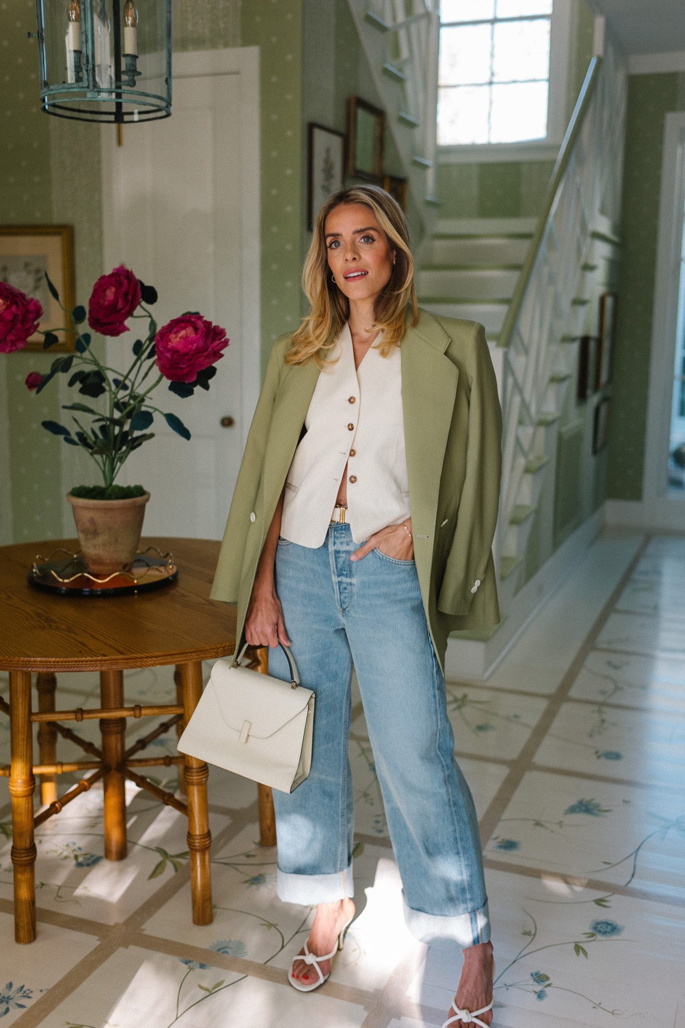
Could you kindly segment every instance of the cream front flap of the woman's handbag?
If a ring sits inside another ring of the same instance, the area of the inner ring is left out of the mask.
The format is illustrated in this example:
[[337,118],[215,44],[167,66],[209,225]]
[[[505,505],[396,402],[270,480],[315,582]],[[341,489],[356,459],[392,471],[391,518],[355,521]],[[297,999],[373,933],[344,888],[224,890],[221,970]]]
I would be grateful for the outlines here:
[[213,689],[221,715],[234,732],[251,723],[250,735],[266,739],[306,709],[311,689],[281,682],[248,667],[233,667],[223,657],[216,661],[206,686]]

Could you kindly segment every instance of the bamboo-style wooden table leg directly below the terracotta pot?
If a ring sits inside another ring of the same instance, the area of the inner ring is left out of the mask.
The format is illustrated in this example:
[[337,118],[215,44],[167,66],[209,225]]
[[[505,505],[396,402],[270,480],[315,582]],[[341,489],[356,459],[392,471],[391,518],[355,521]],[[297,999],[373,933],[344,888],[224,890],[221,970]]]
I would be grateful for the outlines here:
[[[103,708],[123,706],[123,671],[100,672],[100,699]],[[124,752],[124,718],[100,722],[105,765],[105,856],[123,860],[126,855],[125,775],[119,770]]]

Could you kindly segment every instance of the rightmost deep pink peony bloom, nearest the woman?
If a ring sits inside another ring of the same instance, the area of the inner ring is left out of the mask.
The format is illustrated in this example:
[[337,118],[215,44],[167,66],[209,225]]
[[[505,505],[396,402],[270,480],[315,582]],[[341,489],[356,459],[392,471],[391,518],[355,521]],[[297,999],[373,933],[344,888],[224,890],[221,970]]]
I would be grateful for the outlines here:
[[197,372],[216,364],[228,345],[226,329],[200,315],[181,315],[155,336],[155,363],[165,378],[192,382]]

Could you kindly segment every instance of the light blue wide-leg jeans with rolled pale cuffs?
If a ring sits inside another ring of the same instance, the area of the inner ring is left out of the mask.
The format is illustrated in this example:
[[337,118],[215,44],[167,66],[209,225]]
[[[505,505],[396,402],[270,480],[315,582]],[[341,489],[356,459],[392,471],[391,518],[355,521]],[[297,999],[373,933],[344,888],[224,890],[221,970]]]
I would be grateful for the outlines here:
[[[421,942],[490,938],[471,794],[454,760],[445,678],[428,634],[413,560],[372,550],[359,561],[349,525],[322,546],[280,539],[276,592],[303,686],[316,694],[311,771],[273,791],[278,896],[296,904],[353,894],[353,798],[347,740],[356,670],[405,919]],[[290,680],[280,648],[269,673]]]

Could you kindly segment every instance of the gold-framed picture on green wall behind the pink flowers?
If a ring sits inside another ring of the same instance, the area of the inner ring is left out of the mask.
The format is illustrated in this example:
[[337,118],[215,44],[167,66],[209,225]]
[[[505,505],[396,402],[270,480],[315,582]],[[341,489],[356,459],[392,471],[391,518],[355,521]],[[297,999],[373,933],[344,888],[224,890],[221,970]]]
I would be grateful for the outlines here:
[[[40,328],[65,326],[65,314],[50,295],[45,271],[68,310],[74,299],[74,226],[73,225],[0,225],[0,280],[38,300],[43,308]],[[73,351],[75,335],[60,333],[60,342],[50,354]],[[43,336],[36,332],[28,340],[28,350],[42,350]]]

